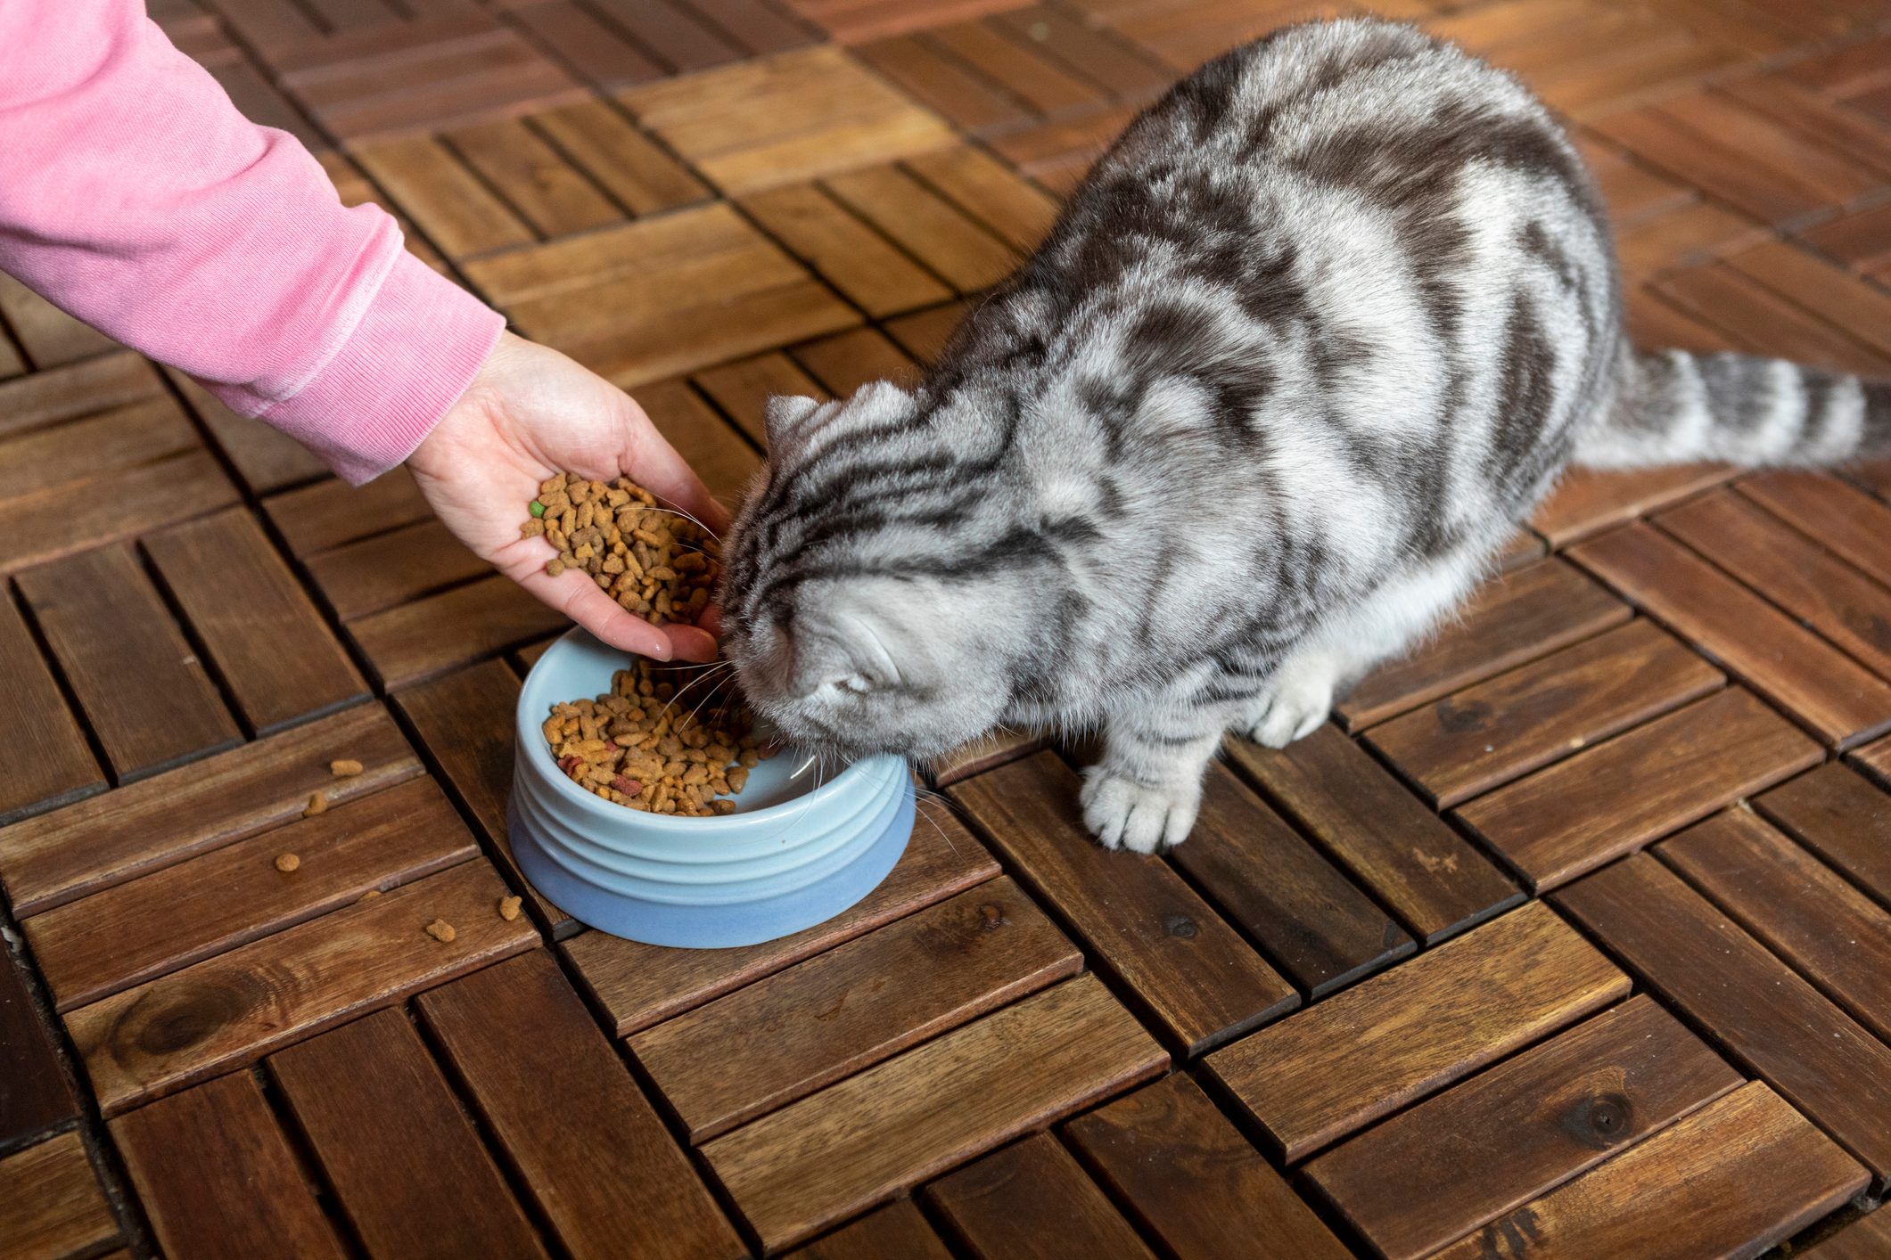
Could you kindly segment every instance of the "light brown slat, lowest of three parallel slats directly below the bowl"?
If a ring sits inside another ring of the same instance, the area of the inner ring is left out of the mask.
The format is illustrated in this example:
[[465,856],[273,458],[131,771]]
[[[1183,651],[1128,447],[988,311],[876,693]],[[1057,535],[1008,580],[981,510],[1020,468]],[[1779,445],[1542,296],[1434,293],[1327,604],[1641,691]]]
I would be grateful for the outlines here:
[[1167,1062],[1084,975],[717,1137],[703,1156],[762,1243],[790,1247]]

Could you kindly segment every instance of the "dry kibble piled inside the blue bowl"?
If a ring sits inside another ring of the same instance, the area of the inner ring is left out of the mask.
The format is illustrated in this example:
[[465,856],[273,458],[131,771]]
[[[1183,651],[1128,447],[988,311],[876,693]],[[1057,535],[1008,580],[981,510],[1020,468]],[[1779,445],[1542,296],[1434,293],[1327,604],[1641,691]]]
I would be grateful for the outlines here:
[[[671,671],[666,671],[671,673]],[[683,674],[692,678],[692,674]],[[552,705],[545,742],[558,769],[586,792],[651,814],[732,814],[726,799],[743,790],[749,771],[773,748],[755,737],[755,720],[739,701],[703,695],[690,701],[651,661],[611,676],[611,693],[594,701]]]

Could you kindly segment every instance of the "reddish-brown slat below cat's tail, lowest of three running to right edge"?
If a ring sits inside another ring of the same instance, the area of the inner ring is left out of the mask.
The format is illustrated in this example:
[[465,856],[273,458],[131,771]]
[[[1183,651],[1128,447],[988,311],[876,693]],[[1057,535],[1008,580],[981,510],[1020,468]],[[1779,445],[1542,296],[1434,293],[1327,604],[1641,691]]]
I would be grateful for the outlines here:
[[1891,727],[1891,684],[1653,527],[1570,555],[1829,742],[1849,748]]

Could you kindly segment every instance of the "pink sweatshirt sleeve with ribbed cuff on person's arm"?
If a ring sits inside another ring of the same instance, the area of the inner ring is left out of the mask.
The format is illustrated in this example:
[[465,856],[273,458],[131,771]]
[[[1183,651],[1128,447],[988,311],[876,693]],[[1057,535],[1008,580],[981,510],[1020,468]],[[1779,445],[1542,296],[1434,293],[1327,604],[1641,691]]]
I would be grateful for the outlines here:
[[505,327],[342,208],[140,0],[0,0],[0,270],[350,482],[420,444]]

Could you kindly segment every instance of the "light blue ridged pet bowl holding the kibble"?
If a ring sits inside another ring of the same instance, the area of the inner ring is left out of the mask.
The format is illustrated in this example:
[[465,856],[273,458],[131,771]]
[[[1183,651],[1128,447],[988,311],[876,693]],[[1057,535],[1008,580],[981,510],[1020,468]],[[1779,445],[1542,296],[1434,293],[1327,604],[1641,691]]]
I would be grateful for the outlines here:
[[645,814],[581,790],[545,744],[558,701],[611,690],[622,652],[581,629],[554,642],[518,693],[512,854],[539,892],[590,928],[647,945],[724,948],[834,918],[874,892],[913,831],[900,758],[823,775],[785,748],[749,773],[736,812]]

